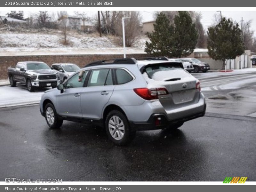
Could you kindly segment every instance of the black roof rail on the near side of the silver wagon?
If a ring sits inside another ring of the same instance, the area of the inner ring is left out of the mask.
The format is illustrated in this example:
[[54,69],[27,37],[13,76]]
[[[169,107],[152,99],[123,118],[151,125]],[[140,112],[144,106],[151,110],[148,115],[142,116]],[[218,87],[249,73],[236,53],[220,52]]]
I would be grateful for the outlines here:
[[106,65],[106,64],[136,64],[137,60],[134,58],[121,58],[121,59],[110,59],[110,60],[100,60],[94,61],[85,65],[84,67]]

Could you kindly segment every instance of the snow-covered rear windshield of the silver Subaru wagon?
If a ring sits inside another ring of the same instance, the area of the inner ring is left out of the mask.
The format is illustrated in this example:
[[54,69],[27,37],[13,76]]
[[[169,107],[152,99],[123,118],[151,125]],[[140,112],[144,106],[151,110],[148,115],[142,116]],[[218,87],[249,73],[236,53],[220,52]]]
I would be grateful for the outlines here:
[[[148,66],[144,69],[150,79],[161,80],[161,76],[188,76],[188,73],[180,68],[179,65],[173,64],[157,64]],[[160,79],[159,79],[160,78]]]

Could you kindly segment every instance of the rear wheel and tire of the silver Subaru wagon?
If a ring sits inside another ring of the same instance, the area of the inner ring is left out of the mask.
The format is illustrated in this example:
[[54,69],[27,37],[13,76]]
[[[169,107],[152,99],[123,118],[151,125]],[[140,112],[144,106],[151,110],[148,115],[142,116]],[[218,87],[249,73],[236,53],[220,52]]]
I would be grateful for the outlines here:
[[112,110],[108,113],[105,128],[108,138],[120,146],[129,144],[136,135],[136,131],[131,129],[126,116],[118,110]]

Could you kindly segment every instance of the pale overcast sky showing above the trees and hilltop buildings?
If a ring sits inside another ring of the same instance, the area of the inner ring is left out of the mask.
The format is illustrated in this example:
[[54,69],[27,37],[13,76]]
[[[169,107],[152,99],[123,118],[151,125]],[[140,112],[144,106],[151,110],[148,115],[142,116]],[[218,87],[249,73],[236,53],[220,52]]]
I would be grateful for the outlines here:
[[[0,15],[4,16],[8,11],[0,11]],[[10,11],[9,11],[10,12]],[[31,14],[34,14],[33,11],[25,11],[25,17],[28,17]],[[96,11],[86,11],[89,17],[95,16]],[[149,21],[154,19],[154,11],[141,11],[142,20]],[[211,26],[214,23],[214,14],[220,14],[216,11],[201,11],[202,13],[202,24],[204,29],[207,30],[207,27]],[[73,11],[68,11],[68,14],[74,15]],[[252,29],[256,31],[256,11],[222,11],[222,17],[232,18],[241,25],[241,20],[243,17],[244,21],[252,20]],[[254,19],[255,18],[255,19]],[[256,33],[255,33],[256,34]]]

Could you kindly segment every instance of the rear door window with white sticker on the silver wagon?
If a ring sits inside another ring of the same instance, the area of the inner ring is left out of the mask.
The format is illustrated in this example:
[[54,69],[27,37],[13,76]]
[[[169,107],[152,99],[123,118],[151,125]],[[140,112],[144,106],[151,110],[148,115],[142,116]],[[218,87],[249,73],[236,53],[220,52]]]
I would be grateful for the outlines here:
[[109,71],[109,69],[93,69],[87,87],[105,85]]

